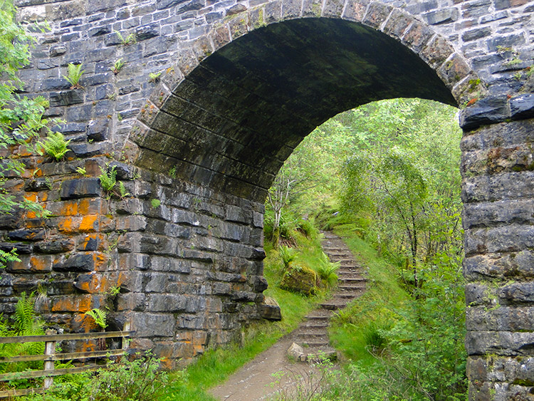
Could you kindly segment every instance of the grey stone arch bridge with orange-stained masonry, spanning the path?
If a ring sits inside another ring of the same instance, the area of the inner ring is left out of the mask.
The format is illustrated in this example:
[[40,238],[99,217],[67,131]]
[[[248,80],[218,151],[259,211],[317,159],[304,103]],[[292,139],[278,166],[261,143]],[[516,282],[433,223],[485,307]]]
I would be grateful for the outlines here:
[[[534,397],[533,1],[17,3],[50,24],[25,90],[72,142],[63,162],[21,152],[7,184],[53,217],[1,217],[21,262],[1,274],[0,311],[41,285],[49,321],[84,330],[83,312],[111,304],[132,346],[169,365],[228,343],[258,318],[263,201],[293,148],[343,110],[428,98],[463,108],[470,400]],[[103,192],[106,165],[130,196]]]

